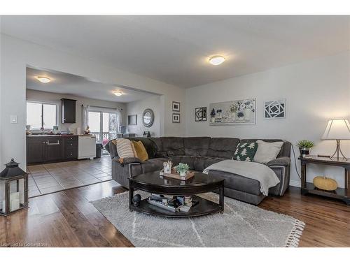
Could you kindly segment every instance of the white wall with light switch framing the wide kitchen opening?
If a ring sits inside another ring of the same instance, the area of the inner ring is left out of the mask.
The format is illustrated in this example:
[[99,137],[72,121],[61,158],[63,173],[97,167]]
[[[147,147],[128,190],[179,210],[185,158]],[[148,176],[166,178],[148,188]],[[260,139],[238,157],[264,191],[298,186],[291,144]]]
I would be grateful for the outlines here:
[[[75,57],[51,48],[1,35],[1,161],[11,157],[26,165],[25,101],[26,66],[48,68],[79,75],[112,85],[125,85],[135,89],[162,94],[161,135],[183,136],[185,124],[172,123],[172,100],[185,101],[185,90],[164,82],[120,71],[111,66],[81,57]],[[18,124],[10,124],[10,115],[18,115]]]

